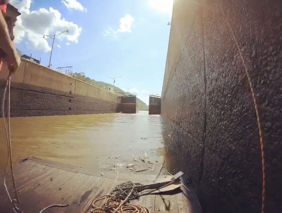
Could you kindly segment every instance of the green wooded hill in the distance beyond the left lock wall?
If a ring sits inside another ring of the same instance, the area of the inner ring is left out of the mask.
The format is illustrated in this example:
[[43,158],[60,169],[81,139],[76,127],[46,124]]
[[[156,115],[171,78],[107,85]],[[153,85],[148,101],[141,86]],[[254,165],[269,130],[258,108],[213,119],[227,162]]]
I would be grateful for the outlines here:
[[[129,93],[129,92],[123,91],[123,90],[120,89],[119,87],[113,86],[113,85],[111,85],[111,84],[108,84],[108,83],[105,83],[105,82],[102,82],[102,81],[96,81],[96,80],[91,79],[91,78],[88,78],[88,77],[86,77],[85,75],[80,74],[80,73],[76,73],[76,72],[75,72],[75,73],[72,74],[72,76],[73,76],[74,78],[78,78],[79,80],[83,80],[83,81],[85,81],[85,82],[87,82],[87,83],[89,83],[89,84],[95,85],[95,86],[97,86],[97,87],[100,87],[100,88],[103,88],[103,89],[106,89],[106,90],[108,90],[108,86],[111,86],[111,87],[114,88],[114,91],[115,91],[116,93],[125,93],[125,95],[133,95],[133,94],[131,94],[131,93]],[[149,110],[149,106],[146,105],[146,103],[144,103],[143,101],[141,101],[139,98],[137,98],[137,103],[138,103],[138,105],[139,105],[139,110],[141,110],[141,111],[148,111],[148,110]]]

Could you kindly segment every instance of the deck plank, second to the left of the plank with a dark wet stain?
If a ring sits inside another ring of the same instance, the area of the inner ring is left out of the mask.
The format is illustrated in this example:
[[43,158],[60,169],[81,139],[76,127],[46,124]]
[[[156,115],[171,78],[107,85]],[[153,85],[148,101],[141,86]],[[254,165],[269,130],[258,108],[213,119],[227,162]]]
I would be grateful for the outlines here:
[[68,171],[63,171],[62,174],[56,177],[51,176],[47,183],[40,185],[35,191],[21,198],[22,211],[28,212],[30,208],[41,202],[56,189],[60,188],[66,181],[73,178],[73,176],[73,173]]

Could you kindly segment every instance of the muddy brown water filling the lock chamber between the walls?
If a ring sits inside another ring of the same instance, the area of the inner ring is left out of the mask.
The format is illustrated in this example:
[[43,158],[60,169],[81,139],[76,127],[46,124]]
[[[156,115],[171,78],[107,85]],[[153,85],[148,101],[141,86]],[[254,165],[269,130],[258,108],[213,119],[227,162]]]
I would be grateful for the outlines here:
[[[133,172],[147,168],[142,174],[157,174],[165,154],[164,131],[161,116],[145,111],[11,118],[15,162],[32,156],[91,171],[119,168]],[[1,170],[7,160],[5,137],[1,118]],[[126,168],[130,164],[133,168]]]

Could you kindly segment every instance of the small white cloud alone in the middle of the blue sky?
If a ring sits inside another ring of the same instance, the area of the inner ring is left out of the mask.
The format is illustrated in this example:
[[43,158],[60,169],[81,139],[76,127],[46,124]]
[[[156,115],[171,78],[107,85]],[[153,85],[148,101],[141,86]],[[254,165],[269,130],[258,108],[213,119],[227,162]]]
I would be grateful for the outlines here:
[[119,29],[113,30],[113,28],[109,28],[108,30],[104,30],[102,33],[104,36],[114,35],[117,36],[118,32],[131,32],[132,23],[134,19],[131,15],[125,15],[119,20]]

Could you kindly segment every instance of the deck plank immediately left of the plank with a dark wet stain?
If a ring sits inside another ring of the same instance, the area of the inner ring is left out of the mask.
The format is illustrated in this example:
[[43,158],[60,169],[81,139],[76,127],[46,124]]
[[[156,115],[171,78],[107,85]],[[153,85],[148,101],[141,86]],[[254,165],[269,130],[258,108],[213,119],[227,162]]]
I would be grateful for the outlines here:
[[[67,181],[62,187],[54,191],[48,197],[43,199],[33,208],[31,208],[28,213],[38,213],[46,206],[52,204],[62,204],[65,200],[67,200],[75,191],[77,191],[91,176],[86,174],[77,173],[75,176]],[[52,208],[49,211],[54,212],[56,208]]]

